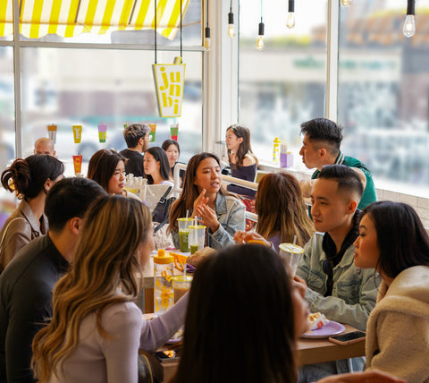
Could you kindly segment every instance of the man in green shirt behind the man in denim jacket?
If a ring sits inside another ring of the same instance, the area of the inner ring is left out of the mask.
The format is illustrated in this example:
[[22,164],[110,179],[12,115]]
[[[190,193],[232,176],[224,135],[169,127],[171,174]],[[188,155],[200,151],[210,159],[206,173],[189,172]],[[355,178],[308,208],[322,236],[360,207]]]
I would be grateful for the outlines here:
[[317,168],[311,176],[311,181],[300,183],[301,190],[304,197],[310,196],[315,179],[317,179],[324,165],[346,165],[357,172],[364,185],[364,194],[357,206],[358,209],[364,209],[366,205],[377,200],[373,177],[362,162],[356,158],[344,156],[341,153],[341,131],[341,126],[327,118],[315,118],[301,124],[301,134],[304,134],[304,139],[302,140],[302,148],[299,150],[299,154],[308,169]]

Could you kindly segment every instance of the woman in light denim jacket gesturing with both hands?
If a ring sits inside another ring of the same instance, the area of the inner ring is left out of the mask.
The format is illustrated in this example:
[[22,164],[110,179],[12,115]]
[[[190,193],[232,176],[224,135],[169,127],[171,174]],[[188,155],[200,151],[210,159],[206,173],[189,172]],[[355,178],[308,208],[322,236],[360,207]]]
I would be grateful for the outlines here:
[[243,203],[226,191],[222,184],[219,158],[201,153],[190,158],[185,173],[181,196],[170,210],[170,230],[176,248],[179,248],[177,218],[198,217],[207,227],[206,245],[214,249],[234,243],[233,235],[244,230]]

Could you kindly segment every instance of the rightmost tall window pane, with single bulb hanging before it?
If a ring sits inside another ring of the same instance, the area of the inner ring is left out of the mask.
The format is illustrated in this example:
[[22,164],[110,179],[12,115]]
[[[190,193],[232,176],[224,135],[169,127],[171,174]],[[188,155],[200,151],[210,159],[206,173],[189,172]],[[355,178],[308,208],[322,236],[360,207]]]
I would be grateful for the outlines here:
[[[365,3],[365,4],[364,4]],[[376,186],[427,196],[429,51],[425,8],[405,38],[405,3],[354,2],[341,9],[339,122],[344,151],[362,159]]]

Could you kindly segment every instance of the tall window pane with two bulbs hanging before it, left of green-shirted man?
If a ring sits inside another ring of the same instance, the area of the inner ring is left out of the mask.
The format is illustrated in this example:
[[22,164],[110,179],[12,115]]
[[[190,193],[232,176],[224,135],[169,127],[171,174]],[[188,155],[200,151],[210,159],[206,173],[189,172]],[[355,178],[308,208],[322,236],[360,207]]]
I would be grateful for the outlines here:
[[265,49],[258,51],[260,2],[240,3],[239,120],[248,125],[259,159],[272,161],[273,139],[279,137],[299,165],[299,124],[324,115],[327,0],[296,2],[291,30],[287,7],[283,0],[265,5]]

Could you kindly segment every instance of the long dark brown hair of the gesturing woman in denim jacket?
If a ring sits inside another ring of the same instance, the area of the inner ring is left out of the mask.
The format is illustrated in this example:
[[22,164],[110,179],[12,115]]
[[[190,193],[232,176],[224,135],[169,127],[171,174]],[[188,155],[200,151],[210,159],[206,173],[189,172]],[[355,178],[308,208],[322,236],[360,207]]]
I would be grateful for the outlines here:
[[[170,209],[170,230],[177,232],[177,218],[185,217],[186,210],[189,210],[189,213],[194,209],[194,200],[197,200],[199,191],[197,185],[194,183],[195,176],[197,175],[197,169],[199,164],[206,158],[214,158],[214,160],[221,166],[221,161],[213,153],[203,152],[196,154],[195,156],[189,159],[188,166],[185,172],[185,182],[183,183],[183,190],[181,191],[181,196],[172,204],[172,209]],[[226,188],[221,184],[221,189],[219,190],[223,195],[233,195],[226,191]],[[233,195],[235,197],[235,195]]]

